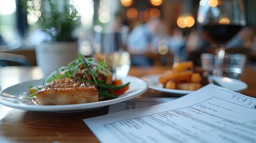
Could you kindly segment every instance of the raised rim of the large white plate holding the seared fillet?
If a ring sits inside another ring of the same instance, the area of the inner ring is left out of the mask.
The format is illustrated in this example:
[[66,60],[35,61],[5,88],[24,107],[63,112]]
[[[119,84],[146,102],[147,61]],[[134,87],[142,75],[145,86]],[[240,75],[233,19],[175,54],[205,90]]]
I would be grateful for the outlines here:
[[[2,89],[2,91],[0,92],[0,104],[5,105],[7,107],[11,107],[11,108],[18,108],[18,109],[22,109],[22,110],[27,110],[27,111],[78,111],[78,110],[91,110],[93,108],[98,108],[98,107],[104,107],[106,105],[111,105],[111,104],[116,104],[118,102],[124,102],[127,100],[131,100],[132,98],[136,98],[138,96],[140,96],[141,94],[143,94],[144,92],[147,91],[147,89],[149,88],[147,82],[145,82],[144,80],[135,77],[135,76],[127,76],[127,77],[123,77],[124,78],[129,78],[132,80],[137,80],[140,81],[141,83],[143,83],[143,85],[140,86],[140,88],[138,88],[136,91],[136,93],[132,94],[131,92],[122,94],[122,95],[129,95],[127,97],[121,97],[121,98],[115,98],[112,100],[106,100],[106,101],[98,101],[98,102],[90,102],[90,103],[83,103],[83,104],[69,104],[69,105],[44,105],[44,106],[40,106],[40,105],[35,105],[35,104],[31,104],[31,105],[24,105],[24,104],[16,104],[16,103],[12,103],[12,102],[8,102],[3,100],[2,98],[2,93],[9,89],[9,88],[14,88],[15,86],[24,84],[24,83],[29,83],[29,82],[39,82],[40,80],[43,82],[45,80],[45,78],[42,79],[37,79],[37,80],[29,80],[27,82],[23,82],[23,83],[18,83],[16,85],[13,86],[9,86],[8,88]],[[128,79],[128,80],[129,80]],[[29,87],[27,87],[29,88]],[[21,91],[22,92],[22,91]],[[121,96],[122,96],[121,95]],[[52,109],[54,108],[54,109]]]

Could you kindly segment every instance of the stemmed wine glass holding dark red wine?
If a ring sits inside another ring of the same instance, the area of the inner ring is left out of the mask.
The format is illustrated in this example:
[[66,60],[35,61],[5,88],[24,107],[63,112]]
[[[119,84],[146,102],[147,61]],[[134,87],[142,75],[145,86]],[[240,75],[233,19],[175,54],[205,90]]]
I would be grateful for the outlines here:
[[221,66],[225,44],[246,24],[242,0],[201,0],[198,10],[198,27],[202,36],[217,44],[213,74],[222,76]]

